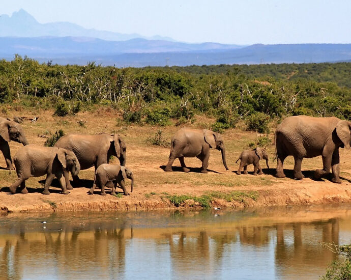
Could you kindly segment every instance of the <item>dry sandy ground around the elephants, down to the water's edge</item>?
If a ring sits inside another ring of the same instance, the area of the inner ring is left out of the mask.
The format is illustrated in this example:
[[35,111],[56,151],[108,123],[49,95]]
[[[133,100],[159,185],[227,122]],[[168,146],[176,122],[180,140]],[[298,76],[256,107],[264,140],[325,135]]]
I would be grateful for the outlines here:
[[[292,178],[293,158],[285,161],[286,178],[275,178],[276,162],[273,143],[268,146],[270,167],[261,161],[266,175],[253,176],[253,167],[249,166],[248,175],[236,175],[237,160],[240,152],[255,141],[257,133],[240,129],[229,129],[223,133],[227,150],[226,171],[221,154],[211,151],[209,173],[199,173],[201,162],[196,158],[186,158],[185,162],[191,169],[189,173],[180,172],[180,163],[174,161],[173,172],[164,172],[169,155],[169,141],[172,134],[180,127],[136,126],[124,124],[118,111],[101,107],[95,111],[78,113],[75,116],[54,117],[52,111],[31,112],[20,109],[6,114],[5,117],[39,116],[37,122],[26,121],[22,124],[28,141],[31,144],[43,145],[49,133],[63,129],[65,133],[119,133],[127,143],[127,166],[131,167],[135,177],[135,187],[131,195],[112,196],[109,193],[101,196],[97,189],[94,195],[86,192],[93,184],[94,169],[83,170],[79,177],[81,184],[63,195],[57,188],[57,182],[50,187],[51,194],[41,193],[45,177],[32,177],[26,181],[30,193],[10,194],[8,186],[16,180],[16,173],[3,169],[6,166],[4,157],[0,156],[0,210],[8,212],[29,211],[101,211],[101,210],[151,210],[168,208],[199,208],[210,202],[211,207],[250,207],[273,205],[309,205],[323,203],[340,203],[351,201],[351,150],[340,149],[341,184],[334,184],[330,177],[320,181],[311,179],[312,171],[321,168],[320,157],[304,159],[303,173],[305,179]],[[5,114],[3,114],[5,115]],[[80,124],[79,124],[80,122]],[[197,116],[197,121],[185,126],[207,128],[211,119]],[[150,143],[158,130],[162,130],[165,146],[155,146]],[[272,124],[271,131],[274,131]],[[44,135],[41,137],[39,135]],[[273,134],[269,134],[273,140]],[[10,142],[12,156],[21,144]],[[116,158],[111,163],[116,162]],[[127,181],[130,188],[130,181]],[[109,192],[107,190],[107,192]],[[120,189],[122,193],[122,190]],[[182,197],[183,196],[183,197]],[[207,205],[209,206],[209,205]]]

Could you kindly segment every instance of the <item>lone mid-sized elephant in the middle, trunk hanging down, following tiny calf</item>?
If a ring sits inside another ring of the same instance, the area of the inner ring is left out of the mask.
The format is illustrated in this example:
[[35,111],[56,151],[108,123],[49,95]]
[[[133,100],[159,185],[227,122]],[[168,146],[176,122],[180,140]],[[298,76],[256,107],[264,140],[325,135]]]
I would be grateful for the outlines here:
[[207,129],[180,129],[174,134],[170,142],[169,160],[165,171],[172,171],[174,159],[179,158],[183,171],[189,172],[190,170],[184,163],[184,157],[196,156],[202,161],[201,173],[207,173],[211,148],[222,152],[222,161],[225,169],[228,170],[221,134]]

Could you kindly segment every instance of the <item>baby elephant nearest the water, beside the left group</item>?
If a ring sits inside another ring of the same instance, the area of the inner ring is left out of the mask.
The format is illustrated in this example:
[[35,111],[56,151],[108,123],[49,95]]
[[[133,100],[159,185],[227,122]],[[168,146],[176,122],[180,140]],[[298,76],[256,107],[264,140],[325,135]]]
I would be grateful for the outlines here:
[[114,181],[111,194],[116,194],[115,189],[117,183],[122,187],[124,195],[129,195],[124,180],[128,178],[132,180],[131,192],[133,192],[134,177],[133,172],[120,164],[103,163],[95,171],[95,179],[92,188],[88,193],[93,194],[96,186],[100,186],[101,195],[106,195],[105,186],[108,182]]

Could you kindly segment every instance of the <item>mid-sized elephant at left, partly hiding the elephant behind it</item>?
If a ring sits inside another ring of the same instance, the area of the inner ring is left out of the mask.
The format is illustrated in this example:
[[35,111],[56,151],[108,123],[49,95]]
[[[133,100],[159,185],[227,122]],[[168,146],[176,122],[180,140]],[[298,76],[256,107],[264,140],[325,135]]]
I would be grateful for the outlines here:
[[78,159],[72,151],[36,145],[21,147],[13,158],[13,163],[16,166],[18,179],[10,186],[12,193],[16,192],[19,185],[21,185],[21,193],[27,193],[25,180],[32,176],[40,177],[46,174],[43,194],[50,194],[49,186],[54,177],[60,182],[61,193],[68,194],[65,178],[62,176],[63,170],[66,169],[75,175],[78,175],[80,170]]

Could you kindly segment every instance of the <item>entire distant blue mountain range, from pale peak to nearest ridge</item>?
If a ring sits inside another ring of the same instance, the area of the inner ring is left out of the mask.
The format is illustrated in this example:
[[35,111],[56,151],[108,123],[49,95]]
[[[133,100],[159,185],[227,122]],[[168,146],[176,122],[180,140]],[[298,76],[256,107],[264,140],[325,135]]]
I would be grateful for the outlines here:
[[251,46],[190,44],[171,38],[143,38],[87,30],[69,22],[41,24],[24,10],[0,16],[0,58],[27,55],[40,62],[121,67],[213,64],[319,63],[351,61],[351,44],[278,44]]

